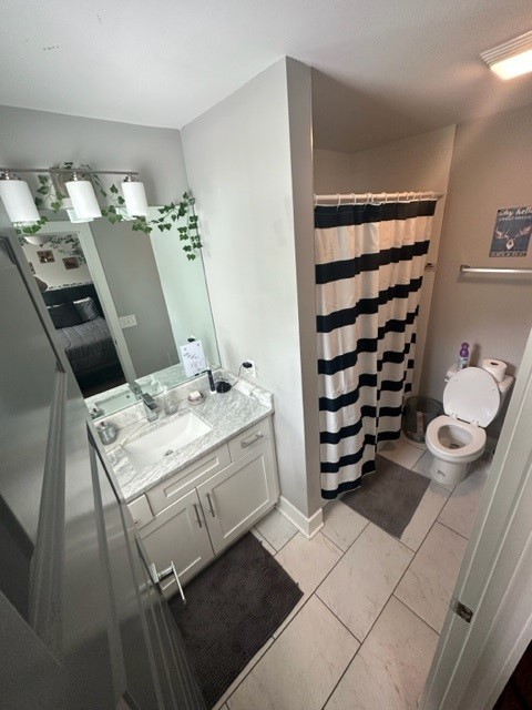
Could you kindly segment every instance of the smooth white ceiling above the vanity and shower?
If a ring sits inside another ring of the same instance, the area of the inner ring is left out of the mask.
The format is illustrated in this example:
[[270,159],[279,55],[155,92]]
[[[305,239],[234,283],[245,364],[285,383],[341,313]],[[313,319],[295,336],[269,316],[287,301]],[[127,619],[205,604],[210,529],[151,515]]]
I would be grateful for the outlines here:
[[315,144],[355,151],[532,103],[479,59],[531,29],[530,0],[2,0],[0,103],[182,128],[287,54]]

